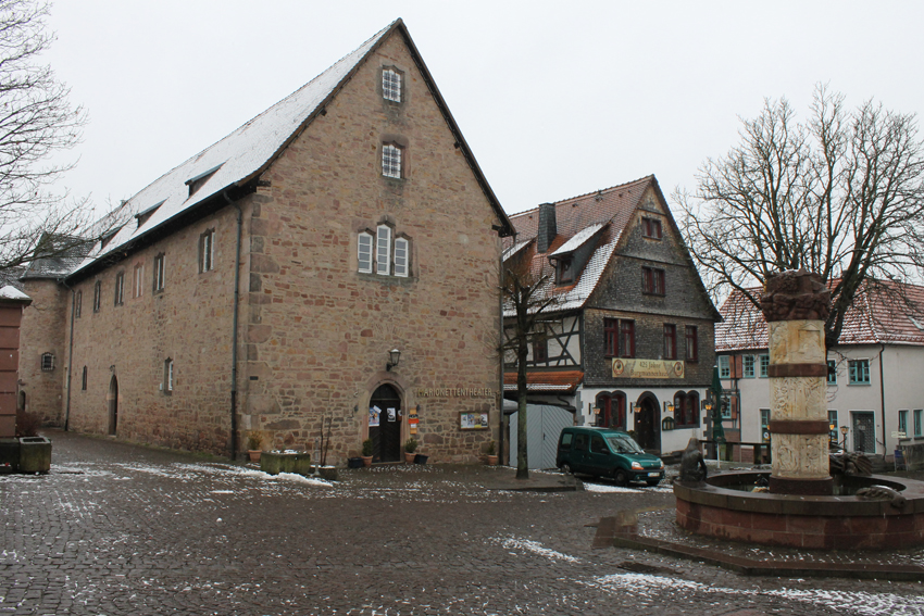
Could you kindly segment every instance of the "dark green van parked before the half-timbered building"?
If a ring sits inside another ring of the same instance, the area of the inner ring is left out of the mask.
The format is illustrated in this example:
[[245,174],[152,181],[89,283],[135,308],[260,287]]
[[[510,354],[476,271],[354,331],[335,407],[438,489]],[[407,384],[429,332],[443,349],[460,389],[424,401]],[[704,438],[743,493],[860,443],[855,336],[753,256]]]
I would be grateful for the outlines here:
[[664,478],[660,457],[645,453],[626,432],[608,428],[562,429],[555,466],[563,473],[611,477],[619,486],[629,481],[657,486]]

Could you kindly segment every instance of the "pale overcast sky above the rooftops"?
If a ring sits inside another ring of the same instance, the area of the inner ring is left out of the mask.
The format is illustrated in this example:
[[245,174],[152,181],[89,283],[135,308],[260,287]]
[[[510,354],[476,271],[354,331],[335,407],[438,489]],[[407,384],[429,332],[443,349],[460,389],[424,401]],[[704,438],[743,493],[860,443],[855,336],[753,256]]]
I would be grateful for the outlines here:
[[692,189],[738,116],[827,81],[917,113],[922,2],[58,0],[89,112],[63,179],[117,203],[402,17],[509,213],[655,174]]

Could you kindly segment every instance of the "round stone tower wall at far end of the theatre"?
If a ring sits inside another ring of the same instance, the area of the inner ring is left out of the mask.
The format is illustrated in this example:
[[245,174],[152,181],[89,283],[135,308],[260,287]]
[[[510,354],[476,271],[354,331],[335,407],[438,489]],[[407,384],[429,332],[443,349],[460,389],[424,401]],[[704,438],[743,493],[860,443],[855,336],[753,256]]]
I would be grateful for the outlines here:
[[[67,380],[67,319],[71,292],[51,279],[24,280],[23,292],[33,303],[23,311],[24,332],[20,353],[20,391],[26,410],[47,425],[63,424],[64,387]],[[42,372],[41,355],[54,355],[54,369]]]

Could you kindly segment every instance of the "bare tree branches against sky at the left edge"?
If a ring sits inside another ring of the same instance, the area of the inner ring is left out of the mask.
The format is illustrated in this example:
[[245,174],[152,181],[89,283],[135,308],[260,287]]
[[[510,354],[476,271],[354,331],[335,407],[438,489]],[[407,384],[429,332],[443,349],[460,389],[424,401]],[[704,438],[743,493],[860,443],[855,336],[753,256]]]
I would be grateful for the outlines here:
[[89,229],[85,202],[52,190],[73,165],[49,160],[79,141],[86,115],[41,63],[54,39],[48,11],[40,0],[0,0],[0,274],[66,253]]

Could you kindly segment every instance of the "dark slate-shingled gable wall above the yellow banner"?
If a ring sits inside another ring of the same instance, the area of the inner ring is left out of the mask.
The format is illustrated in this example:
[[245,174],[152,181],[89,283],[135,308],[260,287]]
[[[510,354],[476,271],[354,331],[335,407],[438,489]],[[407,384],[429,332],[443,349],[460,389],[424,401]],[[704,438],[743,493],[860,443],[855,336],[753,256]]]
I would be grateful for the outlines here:
[[[649,189],[642,196],[640,211],[636,212],[624,234],[628,234],[600,286],[587,302],[585,327],[585,385],[588,387],[677,387],[701,388],[712,382],[715,364],[713,312],[698,274],[684,253],[683,243],[663,215],[666,206]],[[661,219],[661,240],[642,235],[641,218]],[[642,266],[664,269],[666,293],[651,296],[642,292]],[[683,379],[613,379],[610,362],[603,355],[603,318],[630,318],[635,320],[635,356],[660,360],[664,349],[664,324],[677,326],[677,359],[684,359],[685,326],[698,327],[699,362],[687,363]]]

